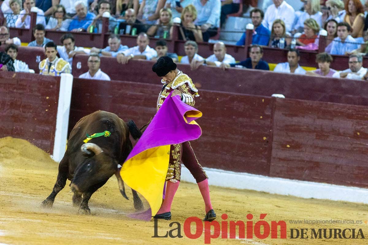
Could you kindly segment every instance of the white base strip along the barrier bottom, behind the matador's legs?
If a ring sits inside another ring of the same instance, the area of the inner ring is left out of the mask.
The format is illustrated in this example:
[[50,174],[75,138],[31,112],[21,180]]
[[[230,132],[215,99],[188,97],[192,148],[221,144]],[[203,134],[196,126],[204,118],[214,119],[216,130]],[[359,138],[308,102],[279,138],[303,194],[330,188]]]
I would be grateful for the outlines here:
[[[270,194],[292,195],[301,198],[329,199],[333,201],[368,204],[368,189],[301,180],[268,177],[250,173],[237,173],[221,169],[203,168],[210,185],[264,191]],[[181,165],[181,180],[195,183],[189,170]]]

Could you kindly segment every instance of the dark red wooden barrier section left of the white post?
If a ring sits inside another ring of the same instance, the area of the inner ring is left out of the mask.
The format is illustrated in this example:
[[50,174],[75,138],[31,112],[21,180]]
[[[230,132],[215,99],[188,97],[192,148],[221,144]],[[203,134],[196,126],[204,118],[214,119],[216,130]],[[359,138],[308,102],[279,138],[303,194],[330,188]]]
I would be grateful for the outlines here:
[[0,72],[0,137],[28,140],[52,153],[60,78]]

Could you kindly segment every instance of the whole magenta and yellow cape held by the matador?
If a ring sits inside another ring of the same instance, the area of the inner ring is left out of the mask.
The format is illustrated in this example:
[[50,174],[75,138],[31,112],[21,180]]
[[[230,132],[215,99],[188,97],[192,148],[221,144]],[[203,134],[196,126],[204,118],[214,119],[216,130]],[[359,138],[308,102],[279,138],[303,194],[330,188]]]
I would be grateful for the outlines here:
[[149,204],[145,212],[131,215],[137,219],[151,220],[160,209],[170,145],[196,140],[202,134],[195,122],[202,112],[181,102],[179,96],[170,96],[164,100],[120,170],[125,184],[139,192]]

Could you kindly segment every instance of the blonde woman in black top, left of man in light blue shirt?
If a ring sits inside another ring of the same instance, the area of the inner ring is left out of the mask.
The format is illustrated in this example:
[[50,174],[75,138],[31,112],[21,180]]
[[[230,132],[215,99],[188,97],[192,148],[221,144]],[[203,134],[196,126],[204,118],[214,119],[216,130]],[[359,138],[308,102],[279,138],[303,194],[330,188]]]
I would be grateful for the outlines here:
[[203,42],[201,26],[194,24],[195,19],[197,19],[197,10],[192,4],[189,4],[183,9],[180,19],[179,40]]

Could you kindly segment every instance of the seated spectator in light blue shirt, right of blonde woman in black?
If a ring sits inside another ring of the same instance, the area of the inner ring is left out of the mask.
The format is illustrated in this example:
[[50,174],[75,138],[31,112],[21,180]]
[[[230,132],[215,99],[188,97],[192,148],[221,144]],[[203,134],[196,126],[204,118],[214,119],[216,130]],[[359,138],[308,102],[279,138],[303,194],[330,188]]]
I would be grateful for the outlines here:
[[201,0],[193,0],[197,10],[197,19],[194,24],[200,25],[202,29],[203,42],[208,42],[210,37],[216,36],[220,27],[220,0],[207,0],[202,4]]

